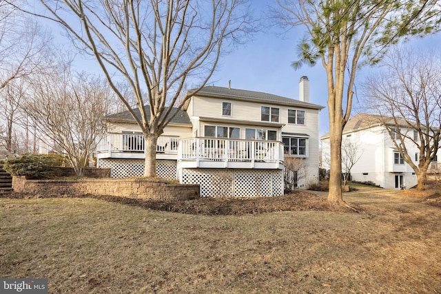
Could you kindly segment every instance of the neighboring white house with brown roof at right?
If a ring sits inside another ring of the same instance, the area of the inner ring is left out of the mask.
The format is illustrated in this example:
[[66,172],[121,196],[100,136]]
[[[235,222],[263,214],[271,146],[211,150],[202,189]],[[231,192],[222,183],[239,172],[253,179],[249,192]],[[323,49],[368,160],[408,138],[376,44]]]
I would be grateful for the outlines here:
[[[386,189],[410,189],[417,184],[416,174],[404,162],[400,152],[393,145],[393,141],[386,127],[373,114],[356,114],[349,119],[343,130],[342,144],[350,140],[356,145],[360,159],[351,169],[351,178],[358,182],[375,182],[376,185]],[[413,130],[400,127],[399,132],[405,134]],[[322,167],[329,169],[329,134],[320,138],[322,147]],[[413,160],[418,165],[418,148],[411,140],[406,139],[405,146],[409,154],[414,154]],[[438,166],[438,158],[432,162],[433,167]],[[431,169],[431,167],[429,167]]]

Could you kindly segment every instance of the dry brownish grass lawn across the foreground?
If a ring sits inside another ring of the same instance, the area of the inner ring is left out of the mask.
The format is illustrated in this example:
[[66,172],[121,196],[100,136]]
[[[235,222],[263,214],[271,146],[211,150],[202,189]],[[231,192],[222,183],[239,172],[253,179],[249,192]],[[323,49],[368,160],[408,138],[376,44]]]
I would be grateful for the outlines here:
[[238,216],[0,198],[0,277],[47,277],[50,293],[441,293],[426,198],[360,189],[345,194],[360,213]]

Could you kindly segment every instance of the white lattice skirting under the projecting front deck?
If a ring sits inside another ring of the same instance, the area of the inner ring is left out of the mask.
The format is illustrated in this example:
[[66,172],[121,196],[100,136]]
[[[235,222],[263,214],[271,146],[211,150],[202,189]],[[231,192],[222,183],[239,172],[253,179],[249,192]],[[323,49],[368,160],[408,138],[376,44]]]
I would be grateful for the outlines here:
[[200,185],[205,197],[281,196],[283,170],[182,169],[181,183]]

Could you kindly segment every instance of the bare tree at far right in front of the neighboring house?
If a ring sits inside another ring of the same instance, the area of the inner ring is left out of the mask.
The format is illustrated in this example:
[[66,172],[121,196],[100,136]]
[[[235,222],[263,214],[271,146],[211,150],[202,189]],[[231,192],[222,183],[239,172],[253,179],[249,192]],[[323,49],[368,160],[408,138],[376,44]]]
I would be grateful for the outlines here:
[[[415,171],[418,189],[424,189],[441,140],[441,55],[396,48],[381,65],[378,74],[367,78],[363,92],[393,145]],[[411,147],[418,149],[418,163]]]

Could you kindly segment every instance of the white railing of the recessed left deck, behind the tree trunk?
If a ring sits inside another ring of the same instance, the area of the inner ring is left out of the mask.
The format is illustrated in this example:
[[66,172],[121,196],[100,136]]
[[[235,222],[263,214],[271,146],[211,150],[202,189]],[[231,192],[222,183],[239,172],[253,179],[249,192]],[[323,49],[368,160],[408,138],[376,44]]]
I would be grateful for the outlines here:
[[[159,136],[156,143],[156,152],[165,154],[178,153],[179,137]],[[145,151],[145,140],[143,134],[121,134],[107,133],[101,136],[101,140],[96,147],[98,153],[102,152],[134,152]]]

